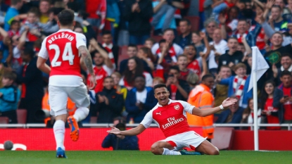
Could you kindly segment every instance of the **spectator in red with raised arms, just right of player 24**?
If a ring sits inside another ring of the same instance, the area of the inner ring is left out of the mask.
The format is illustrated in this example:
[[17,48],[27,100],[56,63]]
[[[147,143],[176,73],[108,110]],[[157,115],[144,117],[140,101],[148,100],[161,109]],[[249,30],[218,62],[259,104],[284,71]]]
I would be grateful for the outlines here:
[[[89,52],[91,52],[91,56],[95,63],[94,65],[94,75],[96,75],[97,85],[94,89],[95,93],[101,92],[103,89],[102,82],[103,80],[110,76],[115,67],[113,63],[110,61],[108,53],[102,48],[102,46],[96,42],[95,39],[90,40]],[[90,75],[87,77],[87,83],[89,84]]]

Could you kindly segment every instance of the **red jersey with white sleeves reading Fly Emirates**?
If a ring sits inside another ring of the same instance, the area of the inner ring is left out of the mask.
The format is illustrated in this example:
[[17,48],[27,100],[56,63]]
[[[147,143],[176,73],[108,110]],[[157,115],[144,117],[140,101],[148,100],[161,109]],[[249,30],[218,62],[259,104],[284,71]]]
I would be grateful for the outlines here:
[[165,137],[193,131],[186,120],[186,112],[192,113],[195,106],[191,106],[191,104],[185,101],[169,100],[167,106],[160,106],[159,103],[157,103],[157,105],[145,115],[141,125],[148,128],[154,120],[160,130],[163,131]]

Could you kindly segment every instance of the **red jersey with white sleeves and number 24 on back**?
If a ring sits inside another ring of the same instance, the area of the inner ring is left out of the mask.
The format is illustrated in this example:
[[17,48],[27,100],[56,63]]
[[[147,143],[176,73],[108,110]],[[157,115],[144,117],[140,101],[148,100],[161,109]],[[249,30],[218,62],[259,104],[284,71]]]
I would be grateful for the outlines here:
[[78,87],[83,83],[78,49],[86,46],[86,42],[84,34],[67,29],[58,30],[44,39],[39,56],[50,59],[49,85]]

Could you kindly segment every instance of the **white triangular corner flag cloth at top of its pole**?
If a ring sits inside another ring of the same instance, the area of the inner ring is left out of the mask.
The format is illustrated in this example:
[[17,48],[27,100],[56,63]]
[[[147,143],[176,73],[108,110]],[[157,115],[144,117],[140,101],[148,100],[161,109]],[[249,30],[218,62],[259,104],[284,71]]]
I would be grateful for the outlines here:
[[250,89],[253,88],[253,73],[256,73],[257,79],[255,82],[258,82],[260,77],[262,77],[262,75],[264,75],[267,69],[269,69],[269,64],[267,63],[267,61],[265,61],[265,58],[264,56],[262,56],[262,53],[260,53],[260,50],[258,50],[258,46],[253,46],[252,49],[253,49],[253,66],[251,68],[248,92],[250,91]]

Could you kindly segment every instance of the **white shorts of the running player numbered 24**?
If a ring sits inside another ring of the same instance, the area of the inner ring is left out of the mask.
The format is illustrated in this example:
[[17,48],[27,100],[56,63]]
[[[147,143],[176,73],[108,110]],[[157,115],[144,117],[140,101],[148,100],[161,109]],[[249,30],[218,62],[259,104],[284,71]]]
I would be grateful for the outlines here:
[[75,103],[77,108],[88,108],[90,105],[89,94],[85,84],[79,87],[49,86],[49,105],[51,115],[58,116],[67,114],[68,97]]

